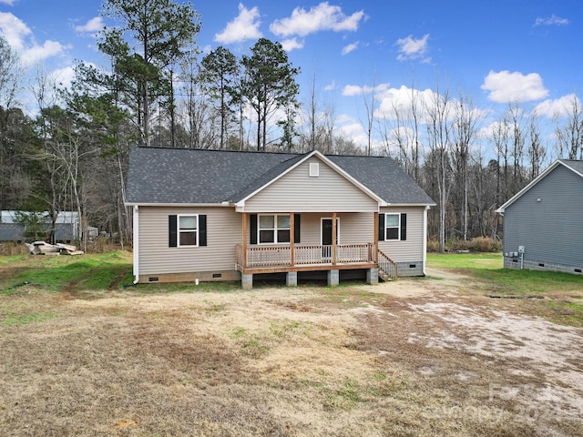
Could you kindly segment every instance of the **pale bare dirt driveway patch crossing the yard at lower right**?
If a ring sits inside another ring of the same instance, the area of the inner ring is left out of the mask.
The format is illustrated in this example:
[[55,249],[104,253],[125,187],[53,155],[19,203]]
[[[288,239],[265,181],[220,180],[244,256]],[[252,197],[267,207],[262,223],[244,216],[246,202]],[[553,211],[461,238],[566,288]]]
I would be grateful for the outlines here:
[[546,422],[541,435],[562,435],[544,430],[547,421],[572,418],[583,426],[583,330],[527,316],[520,300],[462,297],[458,291],[471,289],[472,279],[449,270],[428,276],[435,280],[370,289],[386,300],[363,318],[367,348],[405,361],[436,387],[476,398],[470,412],[502,405],[515,421]]

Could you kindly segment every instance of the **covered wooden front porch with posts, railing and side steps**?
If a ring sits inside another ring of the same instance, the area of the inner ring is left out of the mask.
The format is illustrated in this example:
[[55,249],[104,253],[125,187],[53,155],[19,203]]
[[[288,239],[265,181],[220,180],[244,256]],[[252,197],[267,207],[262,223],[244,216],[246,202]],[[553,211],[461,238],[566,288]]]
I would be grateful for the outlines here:
[[[354,223],[363,219],[355,216],[336,212],[330,215],[290,212],[259,215],[258,219],[257,215],[243,213],[242,244],[236,245],[236,269],[241,273],[243,288],[251,289],[253,275],[265,273],[286,273],[288,286],[297,285],[297,273],[304,271],[326,271],[331,286],[338,285],[340,270],[344,269],[365,269],[368,283],[375,283],[379,278],[396,279],[396,264],[378,249],[378,213],[367,214],[366,223],[360,223],[367,228],[363,233],[371,239],[362,243],[353,242],[354,238],[348,235]],[[304,222],[302,233],[301,219]],[[343,233],[340,231],[342,221]],[[318,222],[320,229],[314,229]],[[310,239],[306,237],[316,233],[320,234],[321,244],[311,244],[313,238],[308,244],[296,241],[301,235],[304,235],[302,239]],[[342,243],[343,239],[350,242]]]

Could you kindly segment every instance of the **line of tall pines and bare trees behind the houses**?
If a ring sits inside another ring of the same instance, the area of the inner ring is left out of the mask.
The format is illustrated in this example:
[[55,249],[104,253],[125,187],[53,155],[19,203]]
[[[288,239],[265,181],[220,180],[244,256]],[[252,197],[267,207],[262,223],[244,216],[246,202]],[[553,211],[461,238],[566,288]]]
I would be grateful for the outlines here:
[[550,150],[537,115],[518,103],[485,133],[471,98],[447,89],[411,86],[390,108],[363,94],[368,144],[358,147],[337,134],[336,110],[319,101],[315,77],[301,104],[300,69],[280,43],[260,38],[248,55],[222,46],[203,54],[198,13],[173,0],[107,0],[101,14],[118,24],[97,39],[110,65],[78,63],[67,87],[39,69],[35,116],[18,102],[23,72],[0,36],[0,208],[48,211],[53,229],[59,211],[77,211],[83,248],[89,224],[131,241],[125,179],[137,144],[391,156],[435,199],[428,231],[442,250],[449,239],[500,238],[496,208],[550,158],[583,158],[575,95],[555,120]]

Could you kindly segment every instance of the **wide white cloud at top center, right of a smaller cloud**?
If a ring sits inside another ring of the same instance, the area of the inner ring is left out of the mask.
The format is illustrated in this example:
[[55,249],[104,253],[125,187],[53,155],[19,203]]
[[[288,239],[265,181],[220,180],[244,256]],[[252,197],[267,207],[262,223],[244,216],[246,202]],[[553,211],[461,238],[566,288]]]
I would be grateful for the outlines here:
[[353,15],[344,15],[341,6],[322,2],[320,5],[313,6],[309,11],[302,7],[296,7],[292,16],[271,23],[270,30],[277,36],[308,36],[322,30],[354,32],[365,18],[363,10],[355,12]]

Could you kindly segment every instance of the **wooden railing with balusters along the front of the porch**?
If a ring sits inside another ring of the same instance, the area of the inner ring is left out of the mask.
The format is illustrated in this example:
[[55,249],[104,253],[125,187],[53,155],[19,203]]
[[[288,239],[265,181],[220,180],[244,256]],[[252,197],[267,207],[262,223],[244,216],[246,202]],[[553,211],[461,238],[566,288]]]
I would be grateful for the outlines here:
[[356,264],[375,262],[373,243],[338,244],[334,257],[332,245],[251,246],[237,245],[237,264],[243,269],[314,266],[318,264]]

